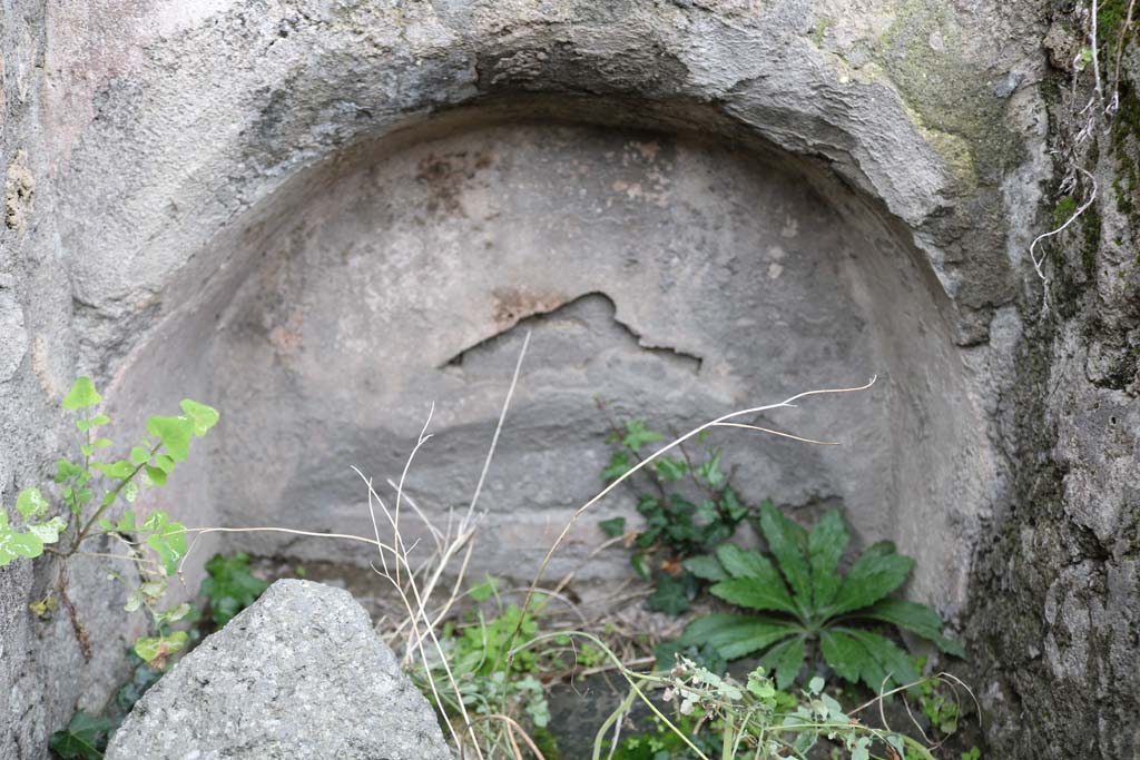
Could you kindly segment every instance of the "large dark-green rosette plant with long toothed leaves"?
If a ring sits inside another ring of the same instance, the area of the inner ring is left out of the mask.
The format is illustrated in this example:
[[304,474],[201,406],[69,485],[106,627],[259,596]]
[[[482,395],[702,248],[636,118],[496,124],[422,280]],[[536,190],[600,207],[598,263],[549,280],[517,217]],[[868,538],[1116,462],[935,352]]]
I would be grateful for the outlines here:
[[914,561],[889,542],[876,544],[846,575],[839,562],[848,532],[837,510],[807,532],[765,501],[758,529],[775,559],[726,544],[714,555],[693,557],[686,569],[714,582],[710,593],[765,615],[712,614],[692,621],[682,644],[709,644],[726,660],[763,653],[762,664],[787,688],[819,646],[823,661],[844,680],[862,681],[873,692],[917,681],[907,654],[869,626],[901,628],[964,656],[960,644],[943,636],[933,608],[888,598],[902,586]]

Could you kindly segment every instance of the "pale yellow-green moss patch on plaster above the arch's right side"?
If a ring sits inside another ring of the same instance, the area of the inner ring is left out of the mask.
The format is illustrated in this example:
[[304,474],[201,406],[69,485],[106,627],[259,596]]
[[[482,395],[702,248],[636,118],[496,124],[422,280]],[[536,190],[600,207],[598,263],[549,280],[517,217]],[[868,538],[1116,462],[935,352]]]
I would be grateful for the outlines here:
[[[966,34],[944,3],[902,0],[876,56],[920,126],[961,140],[935,141],[931,147],[956,167],[969,165],[978,179],[996,182],[1005,167],[1020,163],[1023,147],[1005,123],[1005,100],[994,89],[995,79],[1005,72],[979,70],[966,59]],[[937,39],[940,43],[933,42]]]

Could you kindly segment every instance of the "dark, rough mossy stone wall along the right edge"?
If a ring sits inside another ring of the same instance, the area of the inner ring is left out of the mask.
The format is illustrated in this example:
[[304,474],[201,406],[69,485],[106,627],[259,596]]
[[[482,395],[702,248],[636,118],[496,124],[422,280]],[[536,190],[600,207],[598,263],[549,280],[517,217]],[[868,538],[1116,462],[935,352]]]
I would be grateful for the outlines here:
[[1042,231],[1093,202],[1039,250],[1048,283],[1024,297],[1002,403],[1016,497],[983,542],[968,615],[993,663],[999,757],[1031,743],[1042,758],[1140,752],[1140,58],[1121,39],[1127,5],[1099,7],[1104,99],[1092,67],[1074,66],[1088,13],[1054,3],[1045,40],[1056,182]]

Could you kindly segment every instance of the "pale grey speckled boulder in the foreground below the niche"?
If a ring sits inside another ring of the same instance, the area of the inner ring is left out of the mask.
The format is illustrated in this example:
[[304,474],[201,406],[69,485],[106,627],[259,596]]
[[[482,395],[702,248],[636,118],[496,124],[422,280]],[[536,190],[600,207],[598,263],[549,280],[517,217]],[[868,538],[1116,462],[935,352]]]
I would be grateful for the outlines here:
[[343,589],[282,580],[163,676],[108,760],[450,760],[435,714]]

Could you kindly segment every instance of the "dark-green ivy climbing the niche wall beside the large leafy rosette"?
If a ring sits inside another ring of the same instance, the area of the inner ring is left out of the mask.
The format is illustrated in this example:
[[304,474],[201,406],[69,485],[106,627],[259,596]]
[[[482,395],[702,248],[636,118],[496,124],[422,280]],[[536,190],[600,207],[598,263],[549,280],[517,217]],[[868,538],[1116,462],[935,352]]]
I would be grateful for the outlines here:
[[[612,481],[622,476],[642,459],[645,447],[663,438],[641,420],[616,428],[606,439],[612,452],[602,479]],[[703,442],[705,438],[700,440]],[[637,512],[645,524],[629,537],[634,570],[654,586],[645,606],[670,615],[687,611],[701,589],[700,579],[682,561],[732,538],[750,513],[722,469],[722,449],[708,449],[697,459],[684,448],[678,450],[681,457],[659,457],[638,471],[643,476],[634,488],[640,491]],[[625,533],[626,521],[625,517],[603,520],[598,528],[618,537]]]

